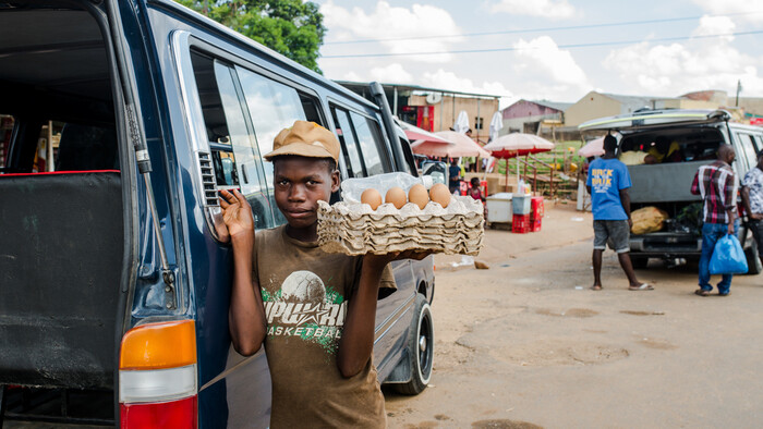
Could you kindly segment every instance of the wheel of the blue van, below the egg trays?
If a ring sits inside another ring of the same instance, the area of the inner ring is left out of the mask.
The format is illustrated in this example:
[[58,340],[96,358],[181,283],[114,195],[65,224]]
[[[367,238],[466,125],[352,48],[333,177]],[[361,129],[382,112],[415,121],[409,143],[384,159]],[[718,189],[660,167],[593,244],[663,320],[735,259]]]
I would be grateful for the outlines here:
[[416,294],[414,315],[408,335],[411,381],[395,384],[395,389],[405,395],[416,395],[426,389],[432,378],[432,364],[435,357],[435,326],[432,321],[432,309],[422,294]]

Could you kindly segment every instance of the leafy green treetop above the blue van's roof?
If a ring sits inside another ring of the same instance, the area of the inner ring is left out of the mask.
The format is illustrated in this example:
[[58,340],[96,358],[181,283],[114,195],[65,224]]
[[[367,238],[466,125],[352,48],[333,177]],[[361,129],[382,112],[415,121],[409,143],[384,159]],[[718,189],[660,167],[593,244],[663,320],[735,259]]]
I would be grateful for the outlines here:
[[318,50],[326,27],[318,5],[302,0],[175,0],[322,73]]

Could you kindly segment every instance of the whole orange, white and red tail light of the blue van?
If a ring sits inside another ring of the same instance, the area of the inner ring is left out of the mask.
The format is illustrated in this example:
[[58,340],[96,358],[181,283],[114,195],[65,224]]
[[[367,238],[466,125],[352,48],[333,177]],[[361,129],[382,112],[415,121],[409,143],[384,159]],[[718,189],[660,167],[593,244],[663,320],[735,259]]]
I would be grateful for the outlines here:
[[147,323],[122,339],[122,428],[196,428],[196,333],[193,320]]

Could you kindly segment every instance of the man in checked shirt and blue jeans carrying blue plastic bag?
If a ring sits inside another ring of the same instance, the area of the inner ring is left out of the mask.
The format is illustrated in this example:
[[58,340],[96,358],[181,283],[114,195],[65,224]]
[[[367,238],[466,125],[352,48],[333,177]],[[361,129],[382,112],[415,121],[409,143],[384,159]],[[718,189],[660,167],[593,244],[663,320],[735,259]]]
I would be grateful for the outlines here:
[[[691,193],[701,195],[703,200],[702,217],[702,256],[700,256],[700,289],[694,291],[700,296],[707,296],[713,290],[710,284],[710,258],[718,238],[726,234],[736,234],[737,221],[737,177],[731,163],[737,154],[730,145],[720,145],[718,159],[702,166],[694,175]],[[730,293],[731,274],[724,274],[718,283],[718,295]]]

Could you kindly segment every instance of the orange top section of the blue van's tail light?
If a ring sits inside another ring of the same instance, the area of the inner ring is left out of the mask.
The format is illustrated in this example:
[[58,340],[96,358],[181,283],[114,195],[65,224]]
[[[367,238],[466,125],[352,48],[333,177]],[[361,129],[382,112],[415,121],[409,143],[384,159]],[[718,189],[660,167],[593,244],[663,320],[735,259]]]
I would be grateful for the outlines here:
[[165,369],[196,363],[193,320],[146,323],[122,338],[119,369]]

